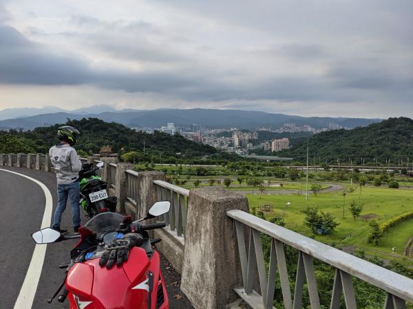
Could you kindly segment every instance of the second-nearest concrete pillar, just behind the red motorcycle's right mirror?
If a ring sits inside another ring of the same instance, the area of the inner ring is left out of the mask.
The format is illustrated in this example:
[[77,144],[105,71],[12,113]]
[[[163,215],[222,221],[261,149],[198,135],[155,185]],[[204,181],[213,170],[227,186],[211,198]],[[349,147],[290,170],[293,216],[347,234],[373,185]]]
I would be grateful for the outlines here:
[[165,174],[157,171],[145,171],[138,174],[138,201],[136,201],[138,218],[145,217],[152,205],[158,201],[156,187],[153,185],[153,181],[156,180],[165,181]]

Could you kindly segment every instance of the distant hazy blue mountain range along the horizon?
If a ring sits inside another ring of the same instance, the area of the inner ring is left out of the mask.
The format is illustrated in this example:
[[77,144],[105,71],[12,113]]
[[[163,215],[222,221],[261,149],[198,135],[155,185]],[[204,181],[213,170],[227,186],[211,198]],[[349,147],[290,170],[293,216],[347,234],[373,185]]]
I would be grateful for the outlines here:
[[[31,114],[31,115],[30,115]],[[5,117],[8,117],[5,119]],[[44,124],[65,123],[69,119],[94,117],[105,122],[117,122],[128,127],[160,128],[167,122],[176,126],[189,127],[199,124],[208,128],[245,128],[257,130],[260,127],[278,128],[286,123],[296,126],[309,125],[325,128],[338,124],[344,128],[368,126],[382,119],[343,118],[343,117],[301,117],[294,115],[265,113],[262,111],[221,110],[207,108],[193,109],[156,109],[156,110],[115,110],[107,105],[95,105],[74,111],[47,106],[45,108],[8,108],[0,111],[0,130],[10,128],[32,129]]]

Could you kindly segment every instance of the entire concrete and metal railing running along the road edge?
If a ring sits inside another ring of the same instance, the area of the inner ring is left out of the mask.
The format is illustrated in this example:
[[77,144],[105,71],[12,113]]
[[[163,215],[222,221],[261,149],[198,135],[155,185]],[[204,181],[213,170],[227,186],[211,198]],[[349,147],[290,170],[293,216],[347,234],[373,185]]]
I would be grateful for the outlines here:
[[[0,155],[0,165],[52,171],[50,159],[40,154]],[[89,157],[83,161],[96,162]],[[181,290],[195,308],[227,308],[241,297],[252,308],[273,308],[276,277],[281,284],[284,308],[301,308],[304,282],[311,308],[320,308],[313,259],[335,269],[330,308],[357,308],[352,277],[386,293],[383,308],[405,308],[413,302],[413,280],[365,260],[306,238],[284,227],[249,214],[242,194],[220,187],[186,190],[165,181],[156,171],[136,172],[130,163],[105,162],[101,175],[110,194],[118,198],[117,211],[134,219],[145,216],[156,201],[170,201],[171,209],[160,220],[167,227],[153,231],[162,238],[156,246],[181,273]],[[264,263],[262,235],[271,238],[269,264]],[[298,251],[295,281],[290,282],[285,246]],[[290,286],[294,286],[293,293]]]

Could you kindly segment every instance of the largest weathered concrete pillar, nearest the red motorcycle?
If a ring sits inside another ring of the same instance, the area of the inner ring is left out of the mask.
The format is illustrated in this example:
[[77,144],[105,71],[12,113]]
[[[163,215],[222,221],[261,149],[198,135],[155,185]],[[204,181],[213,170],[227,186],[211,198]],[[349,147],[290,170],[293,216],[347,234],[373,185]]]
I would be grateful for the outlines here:
[[230,209],[248,212],[246,196],[220,187],[189,192],[181,290],[196,309],[226,308],[242,286]]

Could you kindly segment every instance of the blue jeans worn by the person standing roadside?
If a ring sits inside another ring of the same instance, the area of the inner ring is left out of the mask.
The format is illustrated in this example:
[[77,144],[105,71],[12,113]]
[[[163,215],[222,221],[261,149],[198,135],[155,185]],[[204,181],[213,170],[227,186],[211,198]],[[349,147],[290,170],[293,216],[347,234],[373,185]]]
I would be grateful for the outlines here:
[[59,196],[59,202],[56,210],[54,211],[52,228],[59,228],[62,220],[63,211],[65,211],[67,198],[70,198],[70,204],[72,205],[72,222],[74,227],[81,225],[81,211],[79,209],[79,201],[81,199],[81,189],[79,181],[68,185],[57,185],[57,195]]

